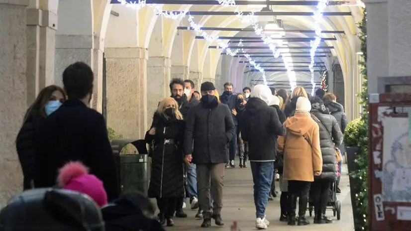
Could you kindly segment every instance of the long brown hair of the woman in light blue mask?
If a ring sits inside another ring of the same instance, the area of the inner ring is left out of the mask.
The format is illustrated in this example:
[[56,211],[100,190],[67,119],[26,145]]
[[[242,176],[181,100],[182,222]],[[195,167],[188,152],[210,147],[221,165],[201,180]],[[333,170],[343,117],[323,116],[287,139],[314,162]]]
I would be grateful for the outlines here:
[[26,123],[28,117],[30,117],[33,113],[37,113],[44,118],[47,117],[44,107],[51,100],[51,96],[55,91],[59,91],[63,95],[63,98],[66,99],[66,93],[59,86],[50,85],[43,88],[34,103],[27,109],[26,114],[24,115],[23,124]]

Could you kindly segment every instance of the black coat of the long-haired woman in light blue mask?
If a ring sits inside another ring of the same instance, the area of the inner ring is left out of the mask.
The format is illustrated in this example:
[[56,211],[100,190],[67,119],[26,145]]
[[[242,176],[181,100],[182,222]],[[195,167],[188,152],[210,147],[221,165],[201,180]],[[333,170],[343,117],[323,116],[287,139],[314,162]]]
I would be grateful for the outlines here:
[[33,113],[29,115],[17,134],[16,149],[23,170],[23,190],[31,188],[35,177],[35,157],[38,152],[38,135],[45,117]]

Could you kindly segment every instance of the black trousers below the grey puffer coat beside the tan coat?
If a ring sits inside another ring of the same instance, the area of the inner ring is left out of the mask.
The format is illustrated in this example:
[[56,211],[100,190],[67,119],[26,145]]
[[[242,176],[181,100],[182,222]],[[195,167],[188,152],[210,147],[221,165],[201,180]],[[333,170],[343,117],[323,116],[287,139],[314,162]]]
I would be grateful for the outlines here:
[[328,204],[331,184],[332,181],[328,180],[317,180],[311,184],[312,204],[317,216],[322,214]]

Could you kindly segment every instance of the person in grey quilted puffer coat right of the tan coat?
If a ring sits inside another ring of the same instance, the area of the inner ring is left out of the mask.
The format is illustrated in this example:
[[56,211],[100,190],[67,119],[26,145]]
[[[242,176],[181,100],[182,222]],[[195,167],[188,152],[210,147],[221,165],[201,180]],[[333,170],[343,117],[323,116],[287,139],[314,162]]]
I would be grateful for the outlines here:
[[331,219],[325,217],[323,209],[327,206],[329,189],[337,180],[337,157],[335,147],[340,145],[343,135],[334,116],[330,115],[322,100],[318,97],[310,99],[311,117],[319,127],[319,138],[322,156],[321,175],[314,177],[311,191],[314,204],[314,224],[328,224]]

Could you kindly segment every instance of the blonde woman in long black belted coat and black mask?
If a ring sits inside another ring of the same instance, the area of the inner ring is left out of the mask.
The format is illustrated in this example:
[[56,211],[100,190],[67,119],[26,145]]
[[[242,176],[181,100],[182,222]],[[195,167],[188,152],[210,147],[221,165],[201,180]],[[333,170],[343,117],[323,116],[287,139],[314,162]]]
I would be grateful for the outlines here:
[[177,102],[170,97],[158,105],[145,141],[153,144],[148,196],[157,199],[159,222],[174,226],[177,198],[184,196],[183,135],[184,120]]

